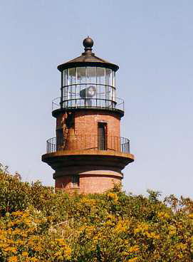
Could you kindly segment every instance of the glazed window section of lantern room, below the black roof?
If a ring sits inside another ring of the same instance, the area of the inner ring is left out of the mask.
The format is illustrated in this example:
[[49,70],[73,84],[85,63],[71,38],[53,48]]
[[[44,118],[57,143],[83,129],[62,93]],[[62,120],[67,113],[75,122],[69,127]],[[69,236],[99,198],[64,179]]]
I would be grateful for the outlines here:
[[62,72],[62,108],[115,108],[115,71],[85,66]]

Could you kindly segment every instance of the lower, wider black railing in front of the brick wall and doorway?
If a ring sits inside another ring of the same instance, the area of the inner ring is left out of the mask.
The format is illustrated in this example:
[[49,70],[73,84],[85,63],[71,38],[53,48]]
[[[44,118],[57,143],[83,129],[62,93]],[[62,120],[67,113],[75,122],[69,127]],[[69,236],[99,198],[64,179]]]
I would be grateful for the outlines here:
[[68,135],[47,140],[47,153],[62,150],[107,150],[130,153],[130,140],[124,137],[98,135]]

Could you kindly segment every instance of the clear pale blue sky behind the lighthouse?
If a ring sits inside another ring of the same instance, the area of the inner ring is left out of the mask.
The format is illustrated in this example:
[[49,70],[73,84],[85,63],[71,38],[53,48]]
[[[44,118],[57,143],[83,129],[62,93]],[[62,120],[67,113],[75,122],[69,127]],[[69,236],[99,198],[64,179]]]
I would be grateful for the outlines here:
[[79,56],[89,35],[94,53],[120,66],[122,137],[136,158],[124,189],[192,197],[192,14],[191,0],[1,1],[0,162],[53,185],[41,154],[55,136],[56,66]]

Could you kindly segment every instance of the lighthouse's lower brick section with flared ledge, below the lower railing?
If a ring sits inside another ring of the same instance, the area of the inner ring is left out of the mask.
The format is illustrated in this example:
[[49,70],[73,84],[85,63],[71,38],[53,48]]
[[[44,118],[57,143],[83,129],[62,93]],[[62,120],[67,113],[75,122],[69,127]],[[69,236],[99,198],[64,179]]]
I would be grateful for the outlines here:
[[133,154],[105,150],[66,150],[43,154],[43,162],[56,172],[56,189],[83,194],[103,193],[122,180],[121,170]]

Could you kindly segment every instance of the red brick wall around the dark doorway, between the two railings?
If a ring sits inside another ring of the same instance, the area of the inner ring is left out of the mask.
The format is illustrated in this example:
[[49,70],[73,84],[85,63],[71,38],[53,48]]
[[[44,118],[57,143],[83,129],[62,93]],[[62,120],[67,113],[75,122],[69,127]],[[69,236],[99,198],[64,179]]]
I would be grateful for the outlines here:
[[73,125],[66,127],[67,113],[58,115],[56,130],[63,128],[64,137],[68,137],[65,150],[97,150],[98,122],[107,125],[107,149],[120,150],[120,116],[115,112],[102,110],[79,110],[73,113]]

